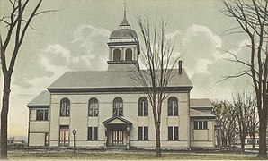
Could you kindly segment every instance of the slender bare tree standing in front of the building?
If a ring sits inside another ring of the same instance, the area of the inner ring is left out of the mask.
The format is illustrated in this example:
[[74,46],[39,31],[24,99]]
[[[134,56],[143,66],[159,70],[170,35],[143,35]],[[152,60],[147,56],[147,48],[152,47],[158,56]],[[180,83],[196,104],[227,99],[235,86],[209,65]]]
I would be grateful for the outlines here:
[[167,21],[162,19],[150,23],[148,19],[138,17],[138,26],[144,42],[144,47],[141,47],[141,60],[146,70],[135,70],[133,71],[135,73],[130,77],[135,84],[144,87],[144,93],[152,106],[156,130],[156,157],[159,157],[161,156],[162,104],[167,97],[168,83],[174,74],[177,74],[173,69],[179,57],[172,57],[174,41],[166,37]]

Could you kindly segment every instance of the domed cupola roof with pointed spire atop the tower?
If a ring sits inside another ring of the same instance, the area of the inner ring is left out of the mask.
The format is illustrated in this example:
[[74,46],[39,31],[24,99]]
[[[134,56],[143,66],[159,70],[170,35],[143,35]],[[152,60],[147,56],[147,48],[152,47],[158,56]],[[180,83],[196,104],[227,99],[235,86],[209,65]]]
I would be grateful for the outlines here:
[[118,38],[138,38],[135,30],[131,30],[130,24],[127,21],[126,11],[124,11],[124,19],[119,25],[119,30],[113,30],[109,39]]

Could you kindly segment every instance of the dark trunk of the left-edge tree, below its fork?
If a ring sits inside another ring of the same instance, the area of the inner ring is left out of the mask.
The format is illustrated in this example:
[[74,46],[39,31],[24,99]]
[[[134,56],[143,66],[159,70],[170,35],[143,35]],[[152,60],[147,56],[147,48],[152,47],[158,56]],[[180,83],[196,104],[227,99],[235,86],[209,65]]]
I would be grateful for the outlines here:
[[4,75],[4,93],[1,111],[1,159],[7,159],[7,119],[11,77]]

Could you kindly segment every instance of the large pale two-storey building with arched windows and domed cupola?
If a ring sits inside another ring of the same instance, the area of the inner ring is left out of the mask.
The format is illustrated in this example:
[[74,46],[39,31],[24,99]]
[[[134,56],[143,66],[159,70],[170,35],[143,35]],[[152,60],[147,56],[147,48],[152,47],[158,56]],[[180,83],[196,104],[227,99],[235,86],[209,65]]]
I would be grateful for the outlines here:
[[[29,147],[156,148],[154,117],[139,69],[138,36],[126,13],[108,40],[107,71],[66,72],[28,105]],[[182,64],[173,69],[163,102],[161,147],[214,148],[215,115],[209,99],[192,99]],[[131,76],[130,76],[131,74]]]

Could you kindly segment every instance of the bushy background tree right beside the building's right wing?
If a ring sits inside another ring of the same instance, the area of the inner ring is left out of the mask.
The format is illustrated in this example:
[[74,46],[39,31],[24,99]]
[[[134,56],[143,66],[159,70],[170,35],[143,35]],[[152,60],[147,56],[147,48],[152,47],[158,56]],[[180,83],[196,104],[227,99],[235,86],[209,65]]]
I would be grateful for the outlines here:
[[236,115],[233,106],[228,101],[213,102],[215,122],[220,126],[221,142],[223,147],[231,147],[236,133]]

